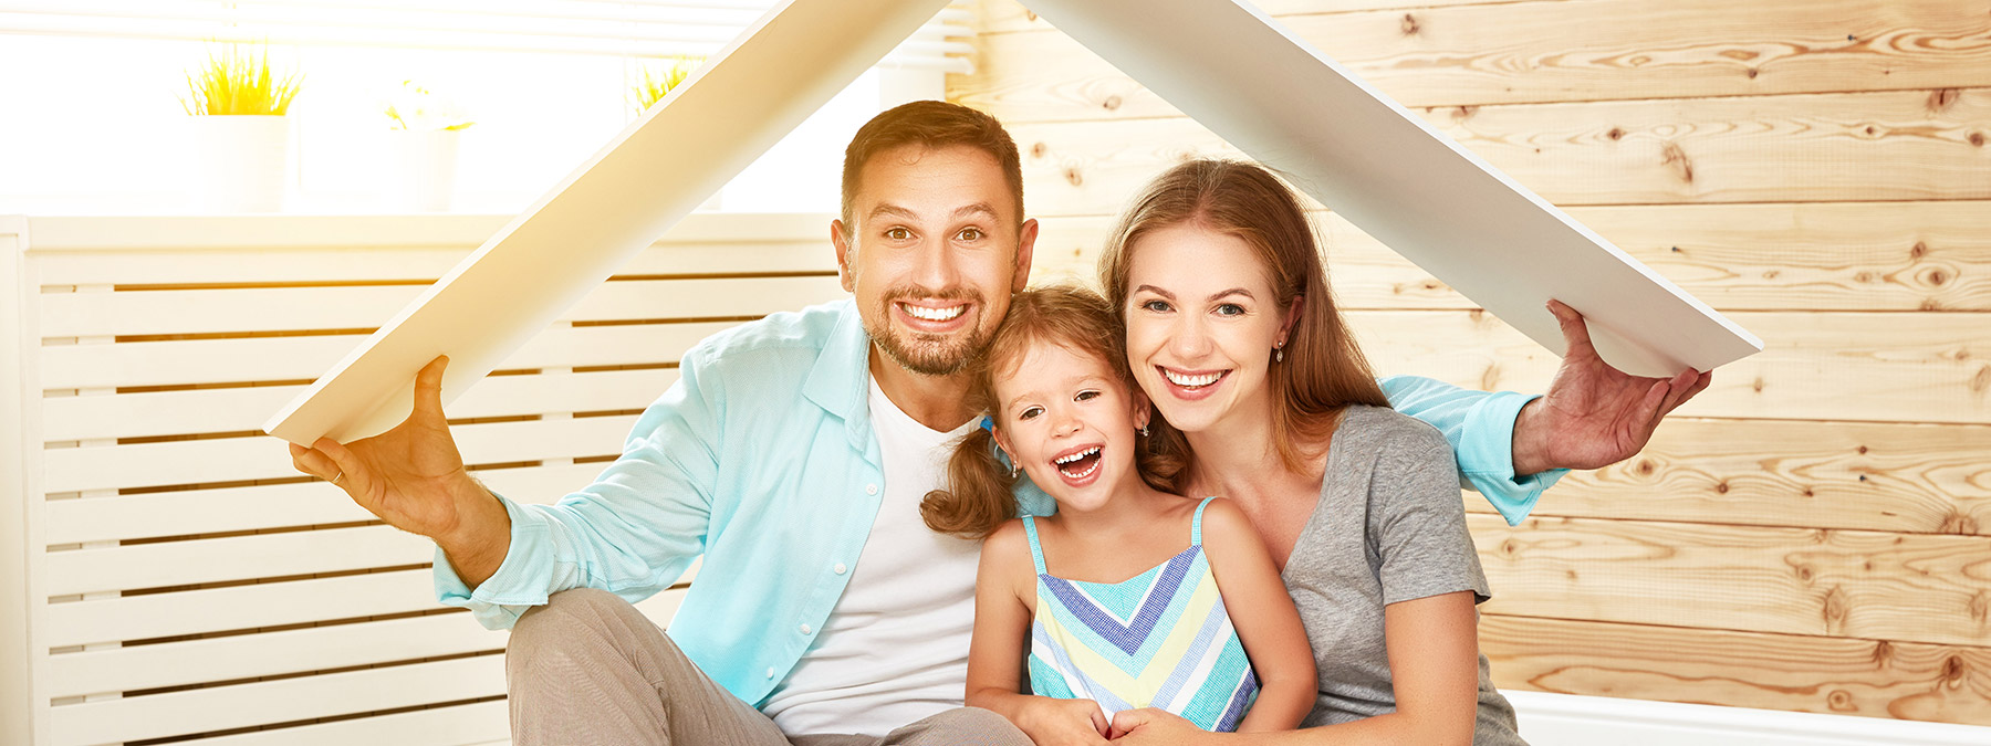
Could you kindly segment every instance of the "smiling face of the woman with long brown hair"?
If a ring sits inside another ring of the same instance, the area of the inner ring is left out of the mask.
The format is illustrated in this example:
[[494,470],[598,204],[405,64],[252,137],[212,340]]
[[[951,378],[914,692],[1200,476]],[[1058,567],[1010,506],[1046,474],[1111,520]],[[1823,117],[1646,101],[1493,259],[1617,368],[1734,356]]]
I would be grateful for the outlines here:
[[1183,432],[1268,416],[1272,346],[1288,314],[1242,239],[1171,225],[1129,247],[1127,364]]

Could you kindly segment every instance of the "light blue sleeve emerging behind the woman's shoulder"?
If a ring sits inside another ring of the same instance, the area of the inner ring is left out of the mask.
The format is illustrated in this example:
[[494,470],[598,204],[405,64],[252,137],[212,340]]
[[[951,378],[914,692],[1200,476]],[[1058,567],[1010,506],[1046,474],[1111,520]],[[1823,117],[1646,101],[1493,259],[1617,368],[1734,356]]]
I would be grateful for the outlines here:
[[1459,483],[1485,497],[1509,525],[1521,523],[1541,493],[1569,471],[1513,473],[1513,424],[1537,394],[1475,392],[1420,376],[1380,382],[1392,408],[1445,434],[1459,464]]

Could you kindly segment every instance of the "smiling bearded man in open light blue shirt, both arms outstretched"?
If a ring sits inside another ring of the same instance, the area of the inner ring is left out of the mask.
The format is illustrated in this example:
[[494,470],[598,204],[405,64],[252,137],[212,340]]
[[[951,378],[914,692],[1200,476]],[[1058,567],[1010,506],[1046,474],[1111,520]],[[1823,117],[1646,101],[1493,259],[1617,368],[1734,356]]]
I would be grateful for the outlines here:
[[[408,422],[293,448],[293,462],[436,539],[444,603],[516,625],[506,670],[522,744],[1027,744],[960,706],[978,547],[928,531],[918,503],[944,481],[948,442],[974,428],[960,372],[1025,286],[1035,237],[1001,125],[908,103],[846,149],[830,241],[854,300],[695,346],[623,456],[559,505],[470,479],[442,418],[440,358]],[[1386,382],[1511,519],[1555,481],[1515,479],[1515,466],[1629,458],[1706,386],[1623,376],[1589,352],[1581,318],[1559,314],[1571,354],[1543,400]],[[665,637],[627,601],[697,557]]]

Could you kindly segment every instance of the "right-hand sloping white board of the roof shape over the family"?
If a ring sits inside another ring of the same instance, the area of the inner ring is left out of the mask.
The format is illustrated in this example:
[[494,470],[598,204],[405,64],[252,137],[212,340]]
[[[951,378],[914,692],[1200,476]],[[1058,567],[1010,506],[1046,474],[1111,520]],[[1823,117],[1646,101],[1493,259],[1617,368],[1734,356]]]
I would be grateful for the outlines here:
[[[1619,370],[1672,376],[1762,340],[1240,0],[1025,0],[1123,74],[1549,350],[1545,302]],[[1330,269],[1332,271],[1332,269]]]

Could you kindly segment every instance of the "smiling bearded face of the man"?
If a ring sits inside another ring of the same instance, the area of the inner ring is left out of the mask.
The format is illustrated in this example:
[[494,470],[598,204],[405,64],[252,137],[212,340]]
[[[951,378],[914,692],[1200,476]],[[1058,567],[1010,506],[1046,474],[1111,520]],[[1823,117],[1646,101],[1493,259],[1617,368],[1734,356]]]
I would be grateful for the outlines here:
[[1029,277],[1037,221],[1017,225],[996,157],[966,145],[902,145],[874,155],[842,221],[830,225],[844,290],[872,342],[926,376],[982,354]]

